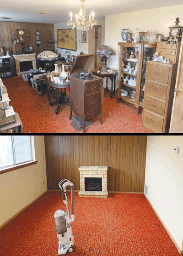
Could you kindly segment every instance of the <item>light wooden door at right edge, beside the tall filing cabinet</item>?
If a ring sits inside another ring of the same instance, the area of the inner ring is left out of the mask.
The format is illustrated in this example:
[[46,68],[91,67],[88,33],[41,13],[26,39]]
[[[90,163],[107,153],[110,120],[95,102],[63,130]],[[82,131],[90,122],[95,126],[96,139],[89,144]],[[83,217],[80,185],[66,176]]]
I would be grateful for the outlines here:
[[183,40],[181,42],[178,63],[177,80],[175,85],[170,133],[183,133]]

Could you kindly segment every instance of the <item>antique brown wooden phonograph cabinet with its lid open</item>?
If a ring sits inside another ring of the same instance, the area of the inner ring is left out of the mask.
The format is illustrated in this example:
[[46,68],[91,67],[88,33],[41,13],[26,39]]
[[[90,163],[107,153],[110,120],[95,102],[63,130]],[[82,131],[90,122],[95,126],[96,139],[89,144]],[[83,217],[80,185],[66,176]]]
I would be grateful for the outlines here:
[[103,79],[88,74],[94,54],[78,55],[70,71],[70,117],[72,111],[83,120],[83,132],[86,132],[86,121],[100,115],[102,125]]

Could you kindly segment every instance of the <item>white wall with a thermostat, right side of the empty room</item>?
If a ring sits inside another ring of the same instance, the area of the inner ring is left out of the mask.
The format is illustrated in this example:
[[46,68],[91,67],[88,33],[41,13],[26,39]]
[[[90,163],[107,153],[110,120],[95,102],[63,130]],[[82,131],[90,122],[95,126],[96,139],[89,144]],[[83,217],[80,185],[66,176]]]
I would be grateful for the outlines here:
[[183,136],[148,136],[145,184],[151,205],[183,250]]

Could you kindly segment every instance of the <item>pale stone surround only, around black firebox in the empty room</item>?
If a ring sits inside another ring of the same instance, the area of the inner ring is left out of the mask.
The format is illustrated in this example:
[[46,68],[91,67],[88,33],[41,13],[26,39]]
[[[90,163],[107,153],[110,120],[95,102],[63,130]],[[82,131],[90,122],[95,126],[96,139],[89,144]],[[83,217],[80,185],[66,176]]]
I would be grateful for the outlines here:
[[[83,197],[108,197],[108,166],[80,166],[80,191]],[[85,178],[102,178],[102,191],[85,191]]]

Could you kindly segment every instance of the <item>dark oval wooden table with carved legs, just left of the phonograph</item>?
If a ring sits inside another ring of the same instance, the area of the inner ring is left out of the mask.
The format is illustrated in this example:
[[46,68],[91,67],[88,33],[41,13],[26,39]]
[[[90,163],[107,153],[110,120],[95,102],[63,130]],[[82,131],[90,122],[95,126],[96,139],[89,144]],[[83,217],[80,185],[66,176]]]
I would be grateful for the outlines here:
[[[55,82],[51,82],[50,77],[46,77],[44,82],[48,87],[48,101],[51,101],[51,98],[50,98],[51,87],[54,88],[54,100],[55,101],[49,102],[49,104],[51,107],[53,107],[54,104],[58,103],[58,107],[55,110],[55,114],[59,113],[59,109],[63,105],[64,102],[70,106],[70,82],[65,82],[65,80],[64,80],[63,84],[58,84]],[[66,88],[69,88],[69,97],[66,95]],[[59,91],[59,89],[61,89],[61,90]],[[64,89],[64,91],[63,91],[63,89]],[[56,94],[55,94],[55,91],[56,91]]]

